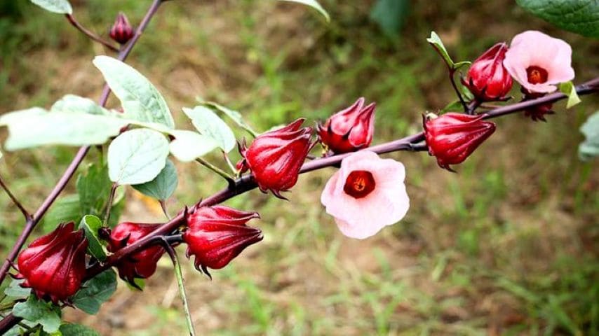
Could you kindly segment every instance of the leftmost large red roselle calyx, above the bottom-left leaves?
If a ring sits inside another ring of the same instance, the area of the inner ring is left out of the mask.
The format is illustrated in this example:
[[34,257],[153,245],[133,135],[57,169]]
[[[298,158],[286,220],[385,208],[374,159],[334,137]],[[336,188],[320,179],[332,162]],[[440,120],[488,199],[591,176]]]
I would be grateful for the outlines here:
[[34,240],[18,258],[17,279],[30,287],[40,299],[65,302],[81,288],[86,274],[88,241],[74,223],[60,224],[48,235]]

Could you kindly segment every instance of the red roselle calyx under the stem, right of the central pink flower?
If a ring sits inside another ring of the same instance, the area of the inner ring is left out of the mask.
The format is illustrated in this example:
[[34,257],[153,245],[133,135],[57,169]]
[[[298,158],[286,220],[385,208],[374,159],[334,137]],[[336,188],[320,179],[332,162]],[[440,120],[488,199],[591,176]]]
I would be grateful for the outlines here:
[[495,124],[484,121],[484,117],[461,113],[424,117],[426,145],[429,146],[429,154],[437,158],[440,167],[453,172],[449,165],[464,162],[495,132]]

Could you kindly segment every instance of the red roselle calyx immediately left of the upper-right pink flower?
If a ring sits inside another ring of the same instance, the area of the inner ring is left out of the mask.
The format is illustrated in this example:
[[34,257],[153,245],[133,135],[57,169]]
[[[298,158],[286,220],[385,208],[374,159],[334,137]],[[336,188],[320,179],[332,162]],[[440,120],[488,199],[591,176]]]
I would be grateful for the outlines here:
[[507,50],[504,42],[493,45],[472,63],[466,79],[462,79],[480,102],[502,100],[511,90],[512,79],[504,67]]

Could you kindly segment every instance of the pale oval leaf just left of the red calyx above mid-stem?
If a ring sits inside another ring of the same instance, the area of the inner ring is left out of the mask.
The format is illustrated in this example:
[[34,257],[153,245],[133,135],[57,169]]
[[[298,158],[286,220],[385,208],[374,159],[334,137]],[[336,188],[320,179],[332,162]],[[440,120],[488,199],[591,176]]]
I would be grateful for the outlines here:
[[231,127],[212,110],[204,106],[196,106],[194,109],[184,107],[183,112],[191,119],[198,132],[214,139],[223,151],[229,153],[235,148],[237,140]]

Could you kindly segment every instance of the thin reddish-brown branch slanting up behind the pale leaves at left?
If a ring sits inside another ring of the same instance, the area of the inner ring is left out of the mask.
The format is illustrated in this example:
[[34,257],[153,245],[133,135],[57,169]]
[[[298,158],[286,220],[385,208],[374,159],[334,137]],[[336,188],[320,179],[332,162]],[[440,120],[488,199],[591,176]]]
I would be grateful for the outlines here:
[[[144,29],[147,27],[150,20],[152,20],[152,18],[154,17],[154,14],[156,14],[156,11],[158,10],[161,3],[163,3],[163,0],[152,1],[152,5],[147,10],[147,13],[144,16],[144,19],[142,20],[140,27],[138,27],[137,31],[135,31],[135,36],[133,36],[133,38],[131,38],[131,41],[129,41],[129,43],[126,45],[126,47],[123,48],[123,50],[121,50],[121,52],[119,52],[119,56],[118,56],[119,60],[124,61],[128,57],[131,50],[133,50],[133,46],[135,45],[135,43],[137,43],[137,41],[142,36]],[[107,87],[107,85],[105,85],[105,88],[106,87]],[[102,93],[102,97],[100,97],[100,102],[99,102],[100,106],[106,105],[106,102],[108,100],[108,94],[109,94],[109,91],[106,94]],[[79,167],[79,165],[81,165],[81,162],[83,161],[83,158],[85,158],[89,149],[90,149],[90,146],[83,146],[83,147],[79,148],[79,151],[75,155],[75,158],[73,158],[72,162],[69,164],[69,167],[67,167],[67,170],[65,170],[65,173],[62,174],[62,177],[60,178],[58,183],[56,183],[56,186],[53,188],[50,195],[48,195],[48,197],[46,197],[46,200],[43,201],[43,203],[41,204],[39,209],[37,209],[37,211],[35,212],[34,216],[29,218],[27,223],[25,223],[25,228],[21,232],[21,235],[18,237],[15,245],[11,249],[11,252],[8,253],[8,256],[6,257],[4,264],[0,268],[0,283],[2,283],[2,281],[4,281],[4,279],[6,279],[6,274],[8,274],[8,270],[11,268],[11,262],[13,262],[15,260],[19,251],[21,250],[22,246],[25,244],[25,241],[27,241],[27,238],[29,237],[29,235],[31,235],[31,232],[33,231],[33,229],[35,228],[37,223],[39,223],[39,221],[41,220],[43,215],[46,214],[46,211],[48,211],[48,209],[51,207],[51,205],[55,202],[55,200],[58,198],[58,195],[60,195],[62,190],[65,189],[65,187],[67,186],[67,183],[69,183],[70,179],[75,174],[77,167]],[[2,332],[2,331],[3,330],[0,328],[0,332]]]

